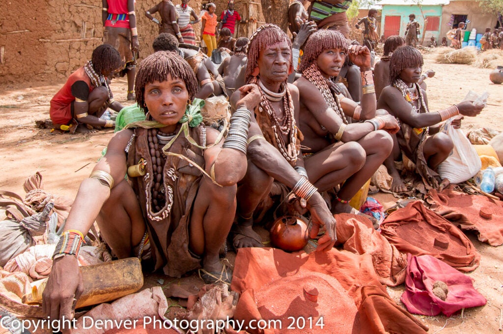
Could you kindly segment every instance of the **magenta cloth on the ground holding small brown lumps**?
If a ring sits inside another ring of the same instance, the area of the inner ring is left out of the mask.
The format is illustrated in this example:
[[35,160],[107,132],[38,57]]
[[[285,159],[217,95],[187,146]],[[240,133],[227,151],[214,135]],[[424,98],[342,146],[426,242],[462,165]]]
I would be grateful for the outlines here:
[[[485,305],[484,296],[473,288],[472,280],[450,265],[430,255],[407,257],[406,290],[401,301],[414,314],[451,316],[462,308]],[[449,292],[444,301],[433,293],[437,281],[447,284]]]

